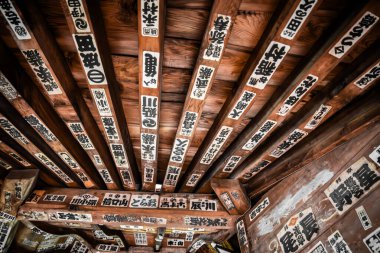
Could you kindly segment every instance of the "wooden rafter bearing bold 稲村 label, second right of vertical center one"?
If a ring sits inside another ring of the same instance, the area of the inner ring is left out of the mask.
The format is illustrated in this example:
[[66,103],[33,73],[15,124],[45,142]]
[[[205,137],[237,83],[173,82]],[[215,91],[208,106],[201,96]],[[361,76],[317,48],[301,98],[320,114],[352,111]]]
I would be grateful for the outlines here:
[[[254,51],[242,71],[236,92],[231,94],[225,102],[183,176],[181,186],[178,188],[179,191],[193,191],[199,179],[211,167],[220,152],[223,152],[224,145],[231,141],[229,137],[233,129],[243,120],[245,114],[251,108],[254,98],[262,93],[272,74],[286,57],[294,43],[292,39],[297,36],[297,32],[308,20],[307,14],[312,12],[315,6],[319,4],[316,1],[308,4],[308,11],[303,11],[306,14],[302,18],[303,24],[296,28],[296,32],[285,33],[288,30],[288,22],[292,19],[293,13],[296,12],[296,8],[301,2],[300,0],[291,1],[278,6],[262,36],[263,39],[257,46],[258,50]],[[306,8],[306,6],[303,7]],[[290,40],[288,39],[289,36]],[[263,68],[263,63],[270,63],[272,68],[266,71]]]

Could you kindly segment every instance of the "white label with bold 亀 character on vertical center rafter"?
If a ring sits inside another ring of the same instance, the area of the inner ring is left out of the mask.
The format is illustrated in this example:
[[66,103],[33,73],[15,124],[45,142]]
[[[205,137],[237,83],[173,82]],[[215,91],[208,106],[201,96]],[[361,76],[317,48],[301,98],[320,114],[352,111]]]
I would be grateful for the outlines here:
[[158,87],[158,72],[160,63],[160,53],[143,51],[143,87],[154,88]]

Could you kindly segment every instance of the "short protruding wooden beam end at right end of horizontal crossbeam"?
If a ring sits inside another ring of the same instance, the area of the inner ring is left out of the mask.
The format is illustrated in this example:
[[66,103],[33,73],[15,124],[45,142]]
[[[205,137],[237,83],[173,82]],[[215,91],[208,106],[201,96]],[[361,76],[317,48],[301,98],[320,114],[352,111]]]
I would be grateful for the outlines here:
[[214,178],[211,187],[229,214],[242,215],[251,207],[251,201],[238,180]]

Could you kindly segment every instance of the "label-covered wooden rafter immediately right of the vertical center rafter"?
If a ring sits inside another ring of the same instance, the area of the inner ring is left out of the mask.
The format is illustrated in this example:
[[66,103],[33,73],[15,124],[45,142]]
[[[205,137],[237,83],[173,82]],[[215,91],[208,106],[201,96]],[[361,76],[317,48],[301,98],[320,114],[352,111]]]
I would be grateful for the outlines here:
[[163,182],[165,192],[174,192],[177,186],[187,150],[202,115],[205,98],[218,71],[225,45],[231,35],[240,2],[241,0],[228,3],[221,0],[214,1],[166,169]]

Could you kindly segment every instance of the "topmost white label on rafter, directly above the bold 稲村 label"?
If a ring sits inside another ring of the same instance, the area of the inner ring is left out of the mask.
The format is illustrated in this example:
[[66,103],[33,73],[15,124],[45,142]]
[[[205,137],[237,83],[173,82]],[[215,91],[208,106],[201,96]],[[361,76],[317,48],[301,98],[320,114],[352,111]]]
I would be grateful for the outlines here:
[[302,0],[294,10],[285,28],[281,32],[281,37],[292,40],[305,22],[317,0]]

